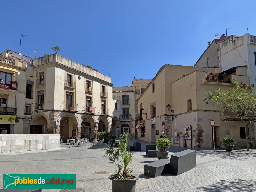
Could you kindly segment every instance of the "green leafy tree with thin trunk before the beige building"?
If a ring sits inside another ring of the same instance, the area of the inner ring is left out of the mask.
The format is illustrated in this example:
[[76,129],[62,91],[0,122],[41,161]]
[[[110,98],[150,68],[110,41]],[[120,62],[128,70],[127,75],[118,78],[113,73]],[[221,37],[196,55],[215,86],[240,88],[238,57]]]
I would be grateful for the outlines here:
[[[229,90],[221,90],[218,88],[215,91],[205,92],[208,96],[205,97],[208,103],[213,103],[217,109],[229,109],[233,116],[238,117],[246,129],[246,148],[249,151],[248,133],[249,126],[252,120],[255,119],[256,113],[256,95],[253,87],[241,86],[233,79],[236,86]],[[251,92],[250,92],[251,89]]]

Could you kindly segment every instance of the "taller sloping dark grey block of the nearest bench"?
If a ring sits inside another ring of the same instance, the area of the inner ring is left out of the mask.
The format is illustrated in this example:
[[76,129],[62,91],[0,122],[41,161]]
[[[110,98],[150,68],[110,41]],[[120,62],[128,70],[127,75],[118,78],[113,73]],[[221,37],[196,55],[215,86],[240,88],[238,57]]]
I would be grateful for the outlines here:
[[187,149],[171,155],[170,174],[180,175],[196,167],[196,151]]

